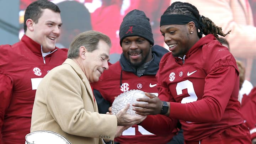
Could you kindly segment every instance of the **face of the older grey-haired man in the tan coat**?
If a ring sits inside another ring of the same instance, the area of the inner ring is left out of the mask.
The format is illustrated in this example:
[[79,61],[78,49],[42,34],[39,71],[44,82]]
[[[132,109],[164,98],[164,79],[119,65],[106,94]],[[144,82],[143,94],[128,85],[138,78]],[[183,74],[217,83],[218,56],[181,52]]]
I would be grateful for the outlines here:
[[108,69],[110,46],[103,40],[98,42],[97,49],[85,53],[83,66],[85,75],[90,82],[99,80],[105,69]]

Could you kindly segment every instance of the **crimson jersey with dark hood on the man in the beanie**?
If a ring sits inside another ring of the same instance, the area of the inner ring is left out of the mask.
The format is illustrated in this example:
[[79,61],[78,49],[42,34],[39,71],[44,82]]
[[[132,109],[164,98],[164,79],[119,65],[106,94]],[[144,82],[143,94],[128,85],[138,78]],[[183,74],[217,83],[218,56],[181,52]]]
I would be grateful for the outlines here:
[[[159,62],[162,55],[167,52],[168,50],[163,47],[158,45],[153,46],[152,53],[154,59],[140,77],[134,74],[136,70],[129,66],[122,54],[120,61],[110,65],[109,69],[105,70],[101,75],[100,80],[92,84],[92,87],[95,90],[98,90],[101,96],[110,103],[114,101],[114,97],[133,89],[150,92],[157,96],[158,89],[156,87],[155,74],[159,68]],[[98,104],[98,107],[101,107],[101,105]],[[169,121],[172,120],[169,119]],[[150,121],[147,121],[147,123],[152,124]],[[162,135],[155,135],[144,129],[142,126],[134,125],[125,130],[122,136],[115,138],[114,141],[120,142],[121,144],[166,144],[174,135],[176,135],[176,132],[177,129],[175,129],[173,133],[170,132]]]

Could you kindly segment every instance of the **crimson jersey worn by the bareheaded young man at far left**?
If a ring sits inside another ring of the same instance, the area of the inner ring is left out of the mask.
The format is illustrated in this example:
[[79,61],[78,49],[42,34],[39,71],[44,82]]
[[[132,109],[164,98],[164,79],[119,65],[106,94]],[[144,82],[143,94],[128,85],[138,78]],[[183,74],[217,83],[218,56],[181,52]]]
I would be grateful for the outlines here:
[[55,48],[43,58],[41,45],[24,35],[0,51],[0,144],[21,144],[30,133],[37,85],[64,62],[68,49]]

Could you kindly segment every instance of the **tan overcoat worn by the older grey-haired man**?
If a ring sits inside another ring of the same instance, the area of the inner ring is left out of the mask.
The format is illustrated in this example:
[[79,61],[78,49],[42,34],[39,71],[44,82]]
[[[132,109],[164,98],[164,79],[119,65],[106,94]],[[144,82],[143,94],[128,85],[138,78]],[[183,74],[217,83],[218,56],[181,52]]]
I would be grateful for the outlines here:
[[101,144],[101,138],[113,140],[116,129],[116,116],[98,113],[90,83],[74,60],[66,59],[40,82],[31,132],[51,130],[72,144]]

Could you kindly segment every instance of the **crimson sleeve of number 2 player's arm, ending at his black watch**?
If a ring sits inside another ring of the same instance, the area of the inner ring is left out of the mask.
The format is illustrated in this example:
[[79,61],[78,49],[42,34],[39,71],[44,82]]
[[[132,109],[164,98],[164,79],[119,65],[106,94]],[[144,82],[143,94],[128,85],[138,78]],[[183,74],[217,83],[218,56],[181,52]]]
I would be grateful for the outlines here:
[[[206,77],[201,100],[190,103],[170,102],[170,117],[190,122],[218,122],[222,118],[236,84],[238,72],[233,66],[220,66]],[[161,94],[159,94],[161,96]],[[212,117],[206,117],[212,113]]]

